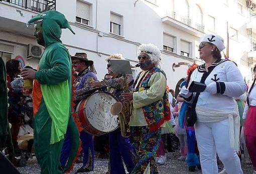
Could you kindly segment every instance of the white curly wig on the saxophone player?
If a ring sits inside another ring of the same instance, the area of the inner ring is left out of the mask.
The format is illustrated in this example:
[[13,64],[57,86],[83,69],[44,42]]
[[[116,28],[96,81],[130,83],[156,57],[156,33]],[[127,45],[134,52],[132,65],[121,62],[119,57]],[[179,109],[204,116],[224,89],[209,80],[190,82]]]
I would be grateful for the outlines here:
[[150,60],[155,64],[159,65],[161,61],[161,51],[158,49],[158,47],[152,43],[149,44],[141,44],[139,46],[139,52],[138,55],[141,52],[145,52],[150,56]]

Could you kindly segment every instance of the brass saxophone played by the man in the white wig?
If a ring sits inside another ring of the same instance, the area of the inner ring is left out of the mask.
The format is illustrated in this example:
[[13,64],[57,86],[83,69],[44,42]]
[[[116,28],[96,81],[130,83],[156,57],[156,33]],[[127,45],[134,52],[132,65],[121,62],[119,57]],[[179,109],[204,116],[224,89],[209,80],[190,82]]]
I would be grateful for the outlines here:
[[[125,74],[122,74],[122,76],[124,79],[123,92],[130,92],[127,76]],[[111,108],[111,113],[113,115],[117,114],[118,116],[118,125],[121,129],[121,134],[123,137],[129,137],[132,133],[129,125],[132,112],[133,112],[132,101],[125,101],[123,103],[118,101],[114,103]]]

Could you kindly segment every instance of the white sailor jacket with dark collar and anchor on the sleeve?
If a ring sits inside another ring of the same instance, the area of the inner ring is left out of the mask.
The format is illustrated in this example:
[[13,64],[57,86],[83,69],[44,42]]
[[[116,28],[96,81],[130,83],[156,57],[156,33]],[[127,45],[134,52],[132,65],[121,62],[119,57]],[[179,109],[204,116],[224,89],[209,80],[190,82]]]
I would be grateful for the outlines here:
[[[234,62],[224,59],[212,63],[209,68],[213,69],[205,79],[206,89],[199,94],[196,105],[231,112],[236,104],[233,97],[240,96],[246,91],[241,72]],[[193,80],[200,82],[204,73],[205,64],[202,64],[193,71],[190,83]],[[190,103],[193,102],[195,94],[189,92],[185,86],[180,92],[180,95]]]

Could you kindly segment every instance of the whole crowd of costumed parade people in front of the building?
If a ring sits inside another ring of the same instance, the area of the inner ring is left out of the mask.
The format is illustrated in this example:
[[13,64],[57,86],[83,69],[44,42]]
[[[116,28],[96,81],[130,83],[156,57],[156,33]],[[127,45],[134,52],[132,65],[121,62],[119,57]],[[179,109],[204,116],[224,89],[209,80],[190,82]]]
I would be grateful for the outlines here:
[[[158,173],[166,153],[175,150],[189,171],[197,167],[204,174],[218,173],[218,156],[224,165],[219,173],[240,174],[243,154],[256,173],[256,66],[247,90],[236,63],[221,59],[225,46],[219,35],[200,38],[198,51],[205,63],[189,65],[175,94],[167,86],[161,51],[154,44],[139,46],[142,71],[136,78],[115,72],[112,60],[124,60],[116,53],[107,57],[108,72],[98,80],[87,54],[70,56],[62,44],[62,28],[74,33],[62,13],[46,11],[28,24],[36,24],[34,35],[45,47],[37,69],[22,69],[15,59],[5,65],[0,59],[0,151],[5,149],[14,165],[19,165],[15,156],[25,144],[29,157],[35,152],[41,173],[68,172],[74,162],[82,163],[77,172],[92,171],[94,150],[108,158],[111,174],[125,173],[125,168],[129,173]],[[26,89],[23,80],[33,80],[33,87]],[[103,135],[83,127],[86,119],[76,114],[95,91],[107,92],[122,104],[115,120],[119,126]],[[128,128],[122,127],[120,112],[128,114]]]

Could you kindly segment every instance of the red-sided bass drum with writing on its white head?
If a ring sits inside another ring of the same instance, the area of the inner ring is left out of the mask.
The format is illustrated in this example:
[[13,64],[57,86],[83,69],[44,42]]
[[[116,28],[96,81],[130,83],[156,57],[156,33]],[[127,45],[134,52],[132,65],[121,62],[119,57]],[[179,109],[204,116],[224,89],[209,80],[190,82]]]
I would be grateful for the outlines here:
[[118,99],[110,93],[98,91],[81,100],[76,108],[76,114],[82,128],[92,135],[100,135],[115,130],[118,127],[117,115],[110,112],[112,105]]

